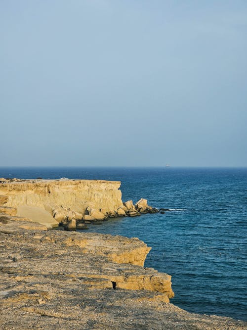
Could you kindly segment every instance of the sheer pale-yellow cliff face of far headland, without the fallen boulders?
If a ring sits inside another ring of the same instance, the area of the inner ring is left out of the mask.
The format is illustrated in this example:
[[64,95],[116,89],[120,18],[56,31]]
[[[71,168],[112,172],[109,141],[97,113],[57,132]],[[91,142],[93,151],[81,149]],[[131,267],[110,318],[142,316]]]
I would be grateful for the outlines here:
[[17,215],[53,225],[52,216],[57,222],[81,219],[88,207],[98,213],[116,212],[123,206],[120,185],[101,180],[18,180],[1,183],[0,195],[5,207],[17,208]]

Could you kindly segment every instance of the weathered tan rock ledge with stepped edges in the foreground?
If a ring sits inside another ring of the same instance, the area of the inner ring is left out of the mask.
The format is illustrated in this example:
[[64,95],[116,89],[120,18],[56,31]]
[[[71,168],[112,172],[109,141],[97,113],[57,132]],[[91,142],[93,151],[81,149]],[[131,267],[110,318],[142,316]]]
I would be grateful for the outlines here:
[[[138,238],[47,231],[0,216],[0,329],[245,329],[172,304]],[[23,227],[24,226],[24,227]]]

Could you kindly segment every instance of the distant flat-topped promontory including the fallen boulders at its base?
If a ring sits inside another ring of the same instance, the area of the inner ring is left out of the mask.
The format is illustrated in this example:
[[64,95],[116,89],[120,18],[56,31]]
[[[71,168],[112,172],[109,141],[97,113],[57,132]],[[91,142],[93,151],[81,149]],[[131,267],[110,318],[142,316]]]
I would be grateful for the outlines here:
[[[119,181],[0,179],[0,212],[68,230],[114,217],[135,217],[158,209],[141,198],[122,201]],[[79,226],[81,225],[81,226]]]

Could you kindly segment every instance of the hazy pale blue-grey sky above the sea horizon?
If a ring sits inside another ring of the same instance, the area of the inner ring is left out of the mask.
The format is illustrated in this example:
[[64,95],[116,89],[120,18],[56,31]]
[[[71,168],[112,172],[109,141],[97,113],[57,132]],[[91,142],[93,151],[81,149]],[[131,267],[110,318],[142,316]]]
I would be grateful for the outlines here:
[[247,1],[0,0],[0,166],[247,166]]

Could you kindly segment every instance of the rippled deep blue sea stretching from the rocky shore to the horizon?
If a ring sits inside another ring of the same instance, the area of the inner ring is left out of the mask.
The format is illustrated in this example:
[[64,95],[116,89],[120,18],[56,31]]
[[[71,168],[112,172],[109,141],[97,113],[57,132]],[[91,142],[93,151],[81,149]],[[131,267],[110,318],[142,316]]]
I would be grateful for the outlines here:
[[143,197],[171,209],[89,231],[139,237],[151,246],[145,266],[172,276],[175,305],[247,320],[247,168],[1,167],[0,177],[117,180],[124,201]]

